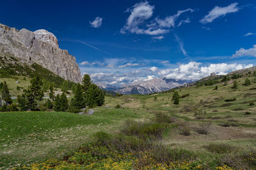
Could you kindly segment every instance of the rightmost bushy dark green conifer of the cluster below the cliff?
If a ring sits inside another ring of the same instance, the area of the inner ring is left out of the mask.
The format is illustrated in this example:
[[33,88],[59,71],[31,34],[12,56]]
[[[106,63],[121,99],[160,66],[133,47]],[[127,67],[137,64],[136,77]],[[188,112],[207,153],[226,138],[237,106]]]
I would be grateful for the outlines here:
[[104,104],[104,92],[97,85],[91,84],[86,94],[86,101],[90,108]]

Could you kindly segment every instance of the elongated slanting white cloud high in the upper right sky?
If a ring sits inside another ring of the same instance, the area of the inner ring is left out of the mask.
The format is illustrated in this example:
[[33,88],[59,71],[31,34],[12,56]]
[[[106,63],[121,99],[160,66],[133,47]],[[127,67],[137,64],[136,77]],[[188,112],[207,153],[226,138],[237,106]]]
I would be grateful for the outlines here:
[[215,6],[211,11],[209,11],[208,15],[206,15],[200,22],[202,24],[207,24],[212,22],[216,18],[227,15],[228,13],[235,13],[239,11],[240,8],[237,7],[238,3],[232,3],[225,7]]

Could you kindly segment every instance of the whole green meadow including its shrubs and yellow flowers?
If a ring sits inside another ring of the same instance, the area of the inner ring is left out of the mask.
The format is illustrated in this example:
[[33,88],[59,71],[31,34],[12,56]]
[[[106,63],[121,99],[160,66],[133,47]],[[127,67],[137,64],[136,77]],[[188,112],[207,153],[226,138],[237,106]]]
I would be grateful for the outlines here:
[[0,167],[255,169],[256,81],[245,78],[175,89],[179,104],[168,92],[106,96],[93,115],[0,113]]

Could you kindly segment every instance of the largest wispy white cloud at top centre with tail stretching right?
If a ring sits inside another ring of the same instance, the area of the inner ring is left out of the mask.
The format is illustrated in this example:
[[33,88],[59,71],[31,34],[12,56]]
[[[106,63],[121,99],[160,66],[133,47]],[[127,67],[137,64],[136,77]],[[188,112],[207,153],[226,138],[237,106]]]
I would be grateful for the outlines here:
[[150,24],[145,24],[145,21],[152,17],[154,8],[154,6],[148,4],[148,1],[134,4],[132,8],[127,9],[126,12],[131,14],[120,32],[125,34],[128,31],[134,34],[148,34],[151,36],[166,34],[170,32],[170,27],[175,26],[175,20],[177,20],[182,13],[194,11],[192,9],[180,10],[177,11],[175,15],[164,19],[157,17],[151,20],[151,22],[149,22]]

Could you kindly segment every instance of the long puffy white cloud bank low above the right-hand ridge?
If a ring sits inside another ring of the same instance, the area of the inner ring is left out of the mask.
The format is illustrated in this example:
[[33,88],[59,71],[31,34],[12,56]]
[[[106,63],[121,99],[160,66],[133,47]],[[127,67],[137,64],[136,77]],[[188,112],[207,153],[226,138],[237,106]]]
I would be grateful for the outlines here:
[[216,74],[227,74],[231,71],[236,71],[237,69],[244,69],[247,67],[252,67],[253,64],[210,64],[209,66],[201,66],[200,62],[189,62],[188,64],[181,64],[176,69],[163,69],[159,71],[159,75],[164,78],[174,79],[174,80],[199,80],[205,76],[209,76],[211,73]]

